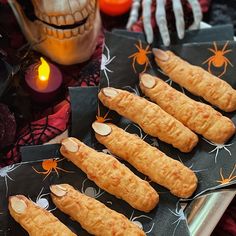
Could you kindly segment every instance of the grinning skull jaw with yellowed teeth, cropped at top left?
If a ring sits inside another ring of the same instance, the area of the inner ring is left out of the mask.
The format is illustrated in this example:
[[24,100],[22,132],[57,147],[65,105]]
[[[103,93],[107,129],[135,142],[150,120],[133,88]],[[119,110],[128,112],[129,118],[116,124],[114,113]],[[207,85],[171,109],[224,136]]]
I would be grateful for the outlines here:
[[96,0],[8,0],[33,49],[76,64],[93,54],[101,20]]

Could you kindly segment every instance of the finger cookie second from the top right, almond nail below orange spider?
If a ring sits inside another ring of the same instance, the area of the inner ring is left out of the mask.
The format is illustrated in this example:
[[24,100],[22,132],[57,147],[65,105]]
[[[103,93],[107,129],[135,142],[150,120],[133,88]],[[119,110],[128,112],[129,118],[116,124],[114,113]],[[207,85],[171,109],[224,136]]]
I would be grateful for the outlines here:
[[142,92],[163,110],[206,139],[223,144],[235,133],[234,123],[211,106],[197,102],[163,80],[140,75]]

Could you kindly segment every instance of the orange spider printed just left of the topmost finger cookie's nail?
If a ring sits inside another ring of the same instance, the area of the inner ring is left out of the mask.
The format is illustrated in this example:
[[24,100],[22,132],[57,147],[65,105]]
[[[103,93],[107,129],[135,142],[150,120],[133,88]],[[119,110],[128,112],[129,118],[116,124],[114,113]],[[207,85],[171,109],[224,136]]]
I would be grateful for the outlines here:
[[147,57],[147,54],[150,54],[151,51],[148,51],[149,50],[149,45],[145,49],[143,49],[143,46],[142,46],[142,43],[141,43],[140,40],[139,40],[139,46],[137,44],[135,44],[135,47],[138,49],[138,52],[130,55],[129,58],[133,58],[132,66],[133,66],[133,69],[134,69],[135,73],[137,73],[137,71],[135,69],[135,63],[136,62],[139,65],[144,65],[145,64],[145,68],[141,72],[141,73],[143,73],[143,72],[146,71],[147,66],[150,65],[149,59]]

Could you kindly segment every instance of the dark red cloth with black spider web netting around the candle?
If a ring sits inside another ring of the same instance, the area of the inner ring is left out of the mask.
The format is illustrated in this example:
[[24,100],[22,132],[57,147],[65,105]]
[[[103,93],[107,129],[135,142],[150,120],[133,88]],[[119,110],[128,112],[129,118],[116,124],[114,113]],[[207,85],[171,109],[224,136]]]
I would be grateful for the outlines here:
[[[46,105],[44,109],[44,106],[40,107],[34,102],[28,103],[30,97],[22,85],[25,70],[30,64],[37,61],[39,54],[32,51],[22,39],[16,22],[5,21],[9,18],[8,14],[12,14],[12,12],[8,11],[5,15],[2,14],[4,12],[0,2],[0,49],[3,52],[1,57],[11,64],[18,63],[20,70],[12,79],[10,89],[2,98],[2,102],[7,104],[15,114],[17,132],[15,142],[10,147],[1,150],[0,168],[20,161],[22,146],[44,144],[68,128],[70,121],[68,87],[98,85],[104,38],[101,33],[97,48],[88,62],[72,66],[58,65],[63,74],[62,91],[57,101]],[[13,29],[16,30],[13,31]],[[13,94],[16,94],[14,96],[17,98],[14,98]]]

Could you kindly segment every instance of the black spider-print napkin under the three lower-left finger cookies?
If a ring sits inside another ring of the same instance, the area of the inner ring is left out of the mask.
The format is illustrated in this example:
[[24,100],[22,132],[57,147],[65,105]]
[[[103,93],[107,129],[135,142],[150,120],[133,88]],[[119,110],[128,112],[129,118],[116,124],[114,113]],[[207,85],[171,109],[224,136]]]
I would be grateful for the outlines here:
[[[186,218],[179,206],[179,199],[173,197],[165,189],[153,185],[158,191],[161,202],[150,213],[143,213],[134,210],[126,202],[99,189],[93,182],[87,179],[86,175],[74,166],[71,162],[61,157],[59,152],[60,145],[41,145],[22,148],[23,162],[14,166],[1,169],[0,178],[0,235],[24,236],[26,232],[10,217],[7,210],[8,196],[24,194],[32,199],[41,207],[51,211],[64,224],[78,235],[89,235],[80,225],[72,221],[68,216],[55,209],[50,195],[48,194],[51,184],[68,183],[81,192],[103,202],[109,208],[123,213],[127,218],[142,225],[147,235],[189,235]],[[31,158],[38,158],[38,161],[27,162]],[[59,176],[52,171],[47,177],[46,174],[36,173],[45,172],[42,163],[45,159],[54,158]],[[128,167],[141,178],[145,178],[131,166]],[[66,173],[65,171],[70,173]]]

